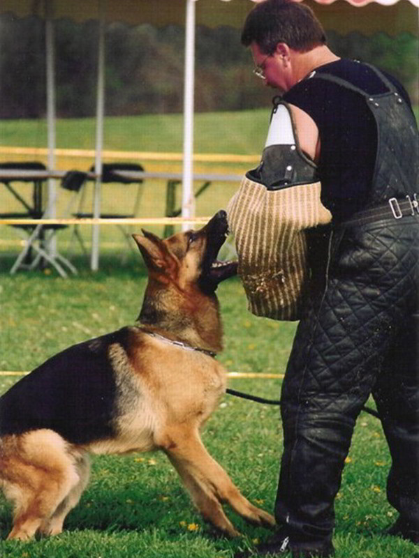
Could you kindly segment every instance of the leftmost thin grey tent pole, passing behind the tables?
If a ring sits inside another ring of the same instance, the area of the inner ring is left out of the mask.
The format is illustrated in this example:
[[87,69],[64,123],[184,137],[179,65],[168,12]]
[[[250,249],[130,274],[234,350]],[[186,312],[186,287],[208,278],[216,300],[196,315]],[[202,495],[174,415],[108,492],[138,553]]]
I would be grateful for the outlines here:
[[[45,63],[47,89],[47,169],[55,169],[55,56],[54,56],[54,6],[53,0],[45,0]],[[48,211],[50,218],[56,216],[55,180],[48,179]],[[53,234],[47,244],[50,255],[57,252],[57,238]]]

